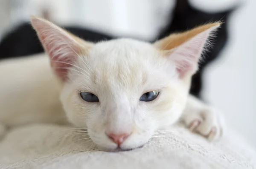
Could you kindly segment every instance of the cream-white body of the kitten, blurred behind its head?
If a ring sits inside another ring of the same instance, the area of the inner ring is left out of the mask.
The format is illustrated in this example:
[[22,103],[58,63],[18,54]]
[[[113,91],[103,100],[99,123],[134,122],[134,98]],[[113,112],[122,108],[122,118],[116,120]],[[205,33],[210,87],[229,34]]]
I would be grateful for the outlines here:
[[60,83],[45,54],[0,62],[0,123],[63,123]]

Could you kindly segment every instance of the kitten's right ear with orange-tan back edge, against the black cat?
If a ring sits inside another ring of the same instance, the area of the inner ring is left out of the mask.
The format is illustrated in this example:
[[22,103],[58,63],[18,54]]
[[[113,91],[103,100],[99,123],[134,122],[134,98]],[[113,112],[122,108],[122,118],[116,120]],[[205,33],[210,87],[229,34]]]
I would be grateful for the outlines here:
[[179,77],[183,78],[197,71],[203,49],[220,24],[211,23],[180,34],[171,34],[154,45],[175,63]]

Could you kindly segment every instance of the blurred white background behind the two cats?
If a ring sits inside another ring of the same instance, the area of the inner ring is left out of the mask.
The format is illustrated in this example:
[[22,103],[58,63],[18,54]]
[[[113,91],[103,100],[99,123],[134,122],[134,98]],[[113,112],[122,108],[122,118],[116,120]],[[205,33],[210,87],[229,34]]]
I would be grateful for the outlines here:
[[[190,0],[204,11],[229,9],[238,0]],[[243,0],[231,16],[230,40],[204,77],[204,99],[221,109],[229,127],[256,147],[256,0]],[[0,0],[0,35],[10,26],[49,9],[51,20],[114,35],[155,38],[174,0]]]

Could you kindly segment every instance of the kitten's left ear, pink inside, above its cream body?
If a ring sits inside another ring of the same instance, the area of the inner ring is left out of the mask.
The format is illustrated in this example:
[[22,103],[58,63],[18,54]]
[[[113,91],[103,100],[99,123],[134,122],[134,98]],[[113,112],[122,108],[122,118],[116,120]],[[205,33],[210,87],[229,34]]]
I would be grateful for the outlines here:
[[67,80],[70,67],[93,46],[40,17],[31,17],[31,24],[50,57],[52,69],[63,80]]

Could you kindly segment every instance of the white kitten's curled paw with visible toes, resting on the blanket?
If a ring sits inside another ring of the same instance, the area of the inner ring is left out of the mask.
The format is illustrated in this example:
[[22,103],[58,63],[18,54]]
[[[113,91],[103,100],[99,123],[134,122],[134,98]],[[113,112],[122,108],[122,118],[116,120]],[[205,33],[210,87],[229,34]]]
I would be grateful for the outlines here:
[[224,135],[224,117],[211,107],[194,109],[183,116],[186,126],[192,132],[198,132],[209,140],[217,140]]

